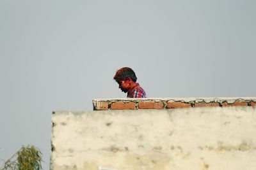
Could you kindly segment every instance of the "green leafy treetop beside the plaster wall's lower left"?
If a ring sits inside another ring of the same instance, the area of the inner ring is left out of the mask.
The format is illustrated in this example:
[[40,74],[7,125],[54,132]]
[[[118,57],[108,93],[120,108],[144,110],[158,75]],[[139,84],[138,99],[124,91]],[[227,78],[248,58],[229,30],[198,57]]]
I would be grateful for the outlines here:
[[42,153],[35,146],[22,146],[10,159],[4,162],[0,170],[40,170]]

